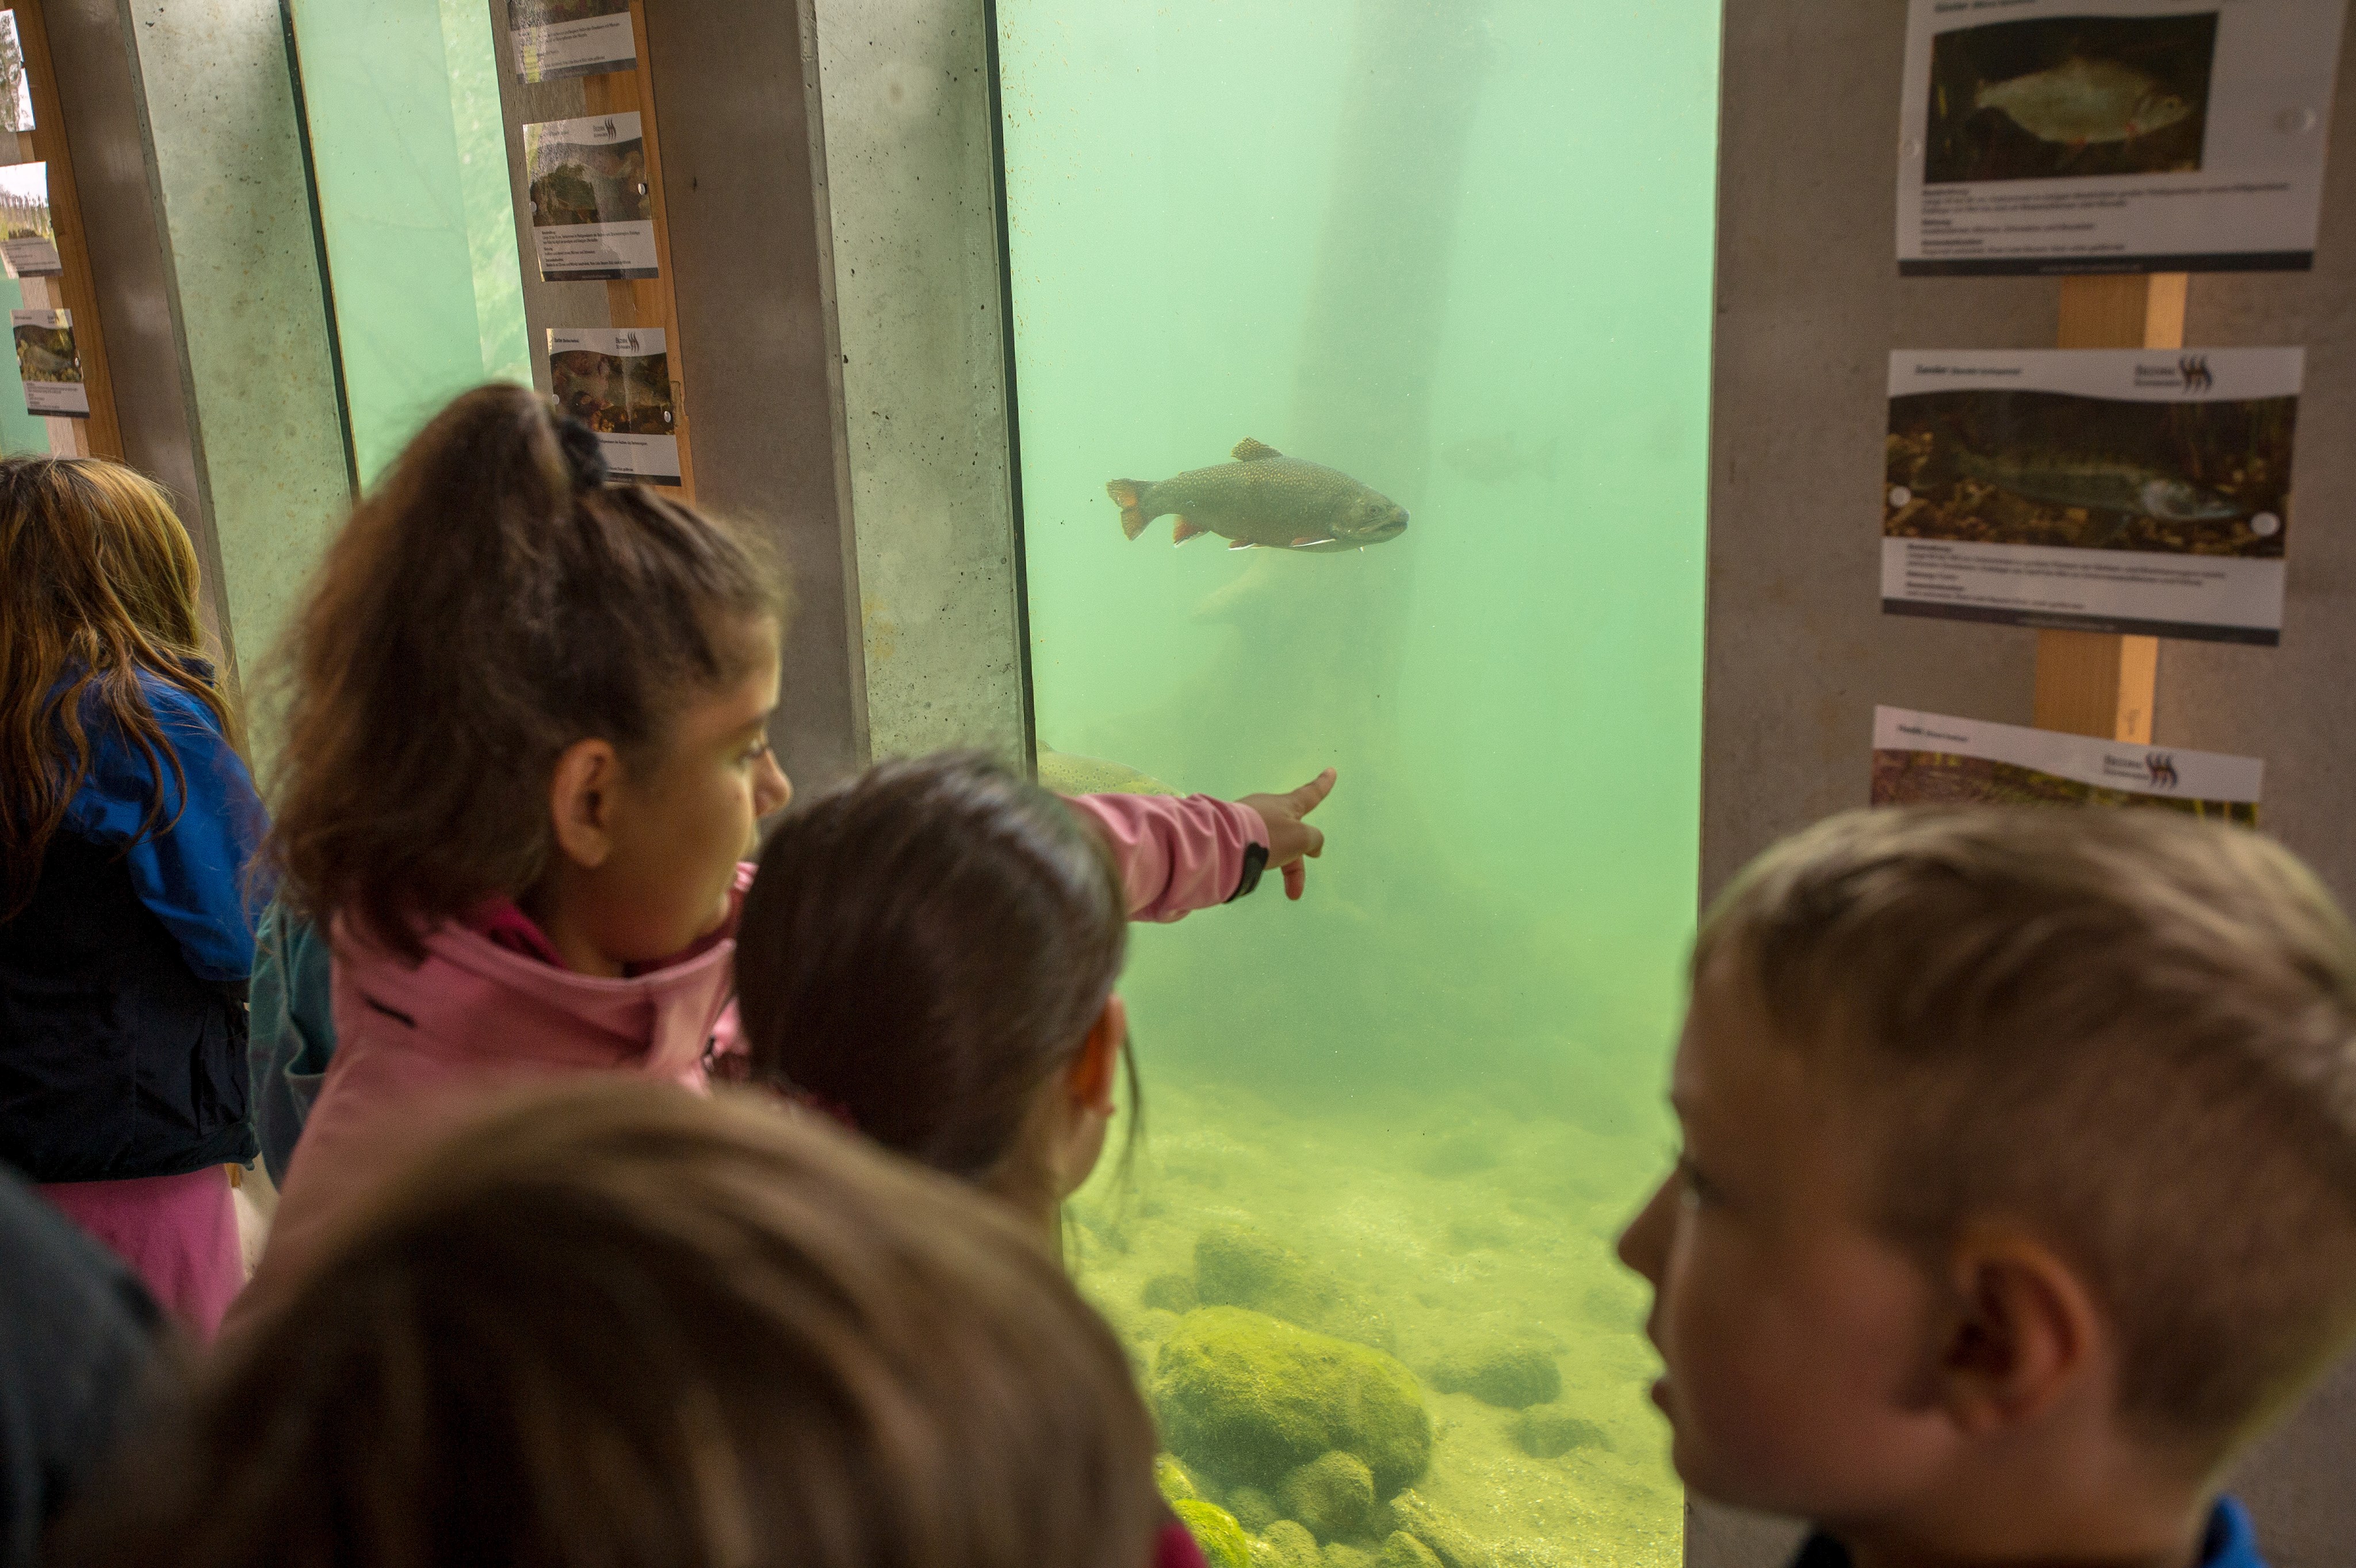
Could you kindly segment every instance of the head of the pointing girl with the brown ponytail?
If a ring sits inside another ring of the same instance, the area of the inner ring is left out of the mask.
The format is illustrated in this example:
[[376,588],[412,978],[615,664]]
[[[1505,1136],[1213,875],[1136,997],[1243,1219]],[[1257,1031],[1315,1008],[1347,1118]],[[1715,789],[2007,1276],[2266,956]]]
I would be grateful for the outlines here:
[[504,895],[608,972],[723,918],[787,796],[780,589],[735,530],[601,480],[587,431],[481,386],[330,546],[290,643],[273,836],[309,913],[415,956]]

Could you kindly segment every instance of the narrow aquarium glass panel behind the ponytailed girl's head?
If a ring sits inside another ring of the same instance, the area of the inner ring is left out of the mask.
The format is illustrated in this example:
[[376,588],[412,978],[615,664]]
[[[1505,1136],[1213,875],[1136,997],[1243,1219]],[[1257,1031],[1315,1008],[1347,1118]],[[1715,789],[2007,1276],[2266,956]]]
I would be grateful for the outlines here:
[[530,381],[490,7],[292,0],[344,398],[370,483],[476,381]]

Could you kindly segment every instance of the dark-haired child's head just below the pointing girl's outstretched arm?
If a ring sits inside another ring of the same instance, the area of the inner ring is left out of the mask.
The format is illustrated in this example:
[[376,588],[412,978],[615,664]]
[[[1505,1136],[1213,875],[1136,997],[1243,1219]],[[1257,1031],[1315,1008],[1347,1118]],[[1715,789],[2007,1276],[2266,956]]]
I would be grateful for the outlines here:
[[1129,942],[1105,845],[997,763],[881,763],[770,833],[737,928],[756,1081],[1025,1208],[1103,1149]]

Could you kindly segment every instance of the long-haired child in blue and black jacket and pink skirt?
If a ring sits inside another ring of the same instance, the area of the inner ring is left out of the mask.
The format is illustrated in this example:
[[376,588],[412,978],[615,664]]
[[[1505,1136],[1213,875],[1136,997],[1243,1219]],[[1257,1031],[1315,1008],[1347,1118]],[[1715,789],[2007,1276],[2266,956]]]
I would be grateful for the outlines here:
[[262,829],[170,499],[0,461],[0,1161],[207,1337],[245,1278]]

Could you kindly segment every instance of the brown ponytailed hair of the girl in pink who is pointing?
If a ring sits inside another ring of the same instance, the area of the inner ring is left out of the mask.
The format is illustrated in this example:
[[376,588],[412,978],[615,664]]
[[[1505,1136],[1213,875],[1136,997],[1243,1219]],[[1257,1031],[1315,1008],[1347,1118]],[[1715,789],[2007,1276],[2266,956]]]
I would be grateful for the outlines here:
[[[584,443],[584,450],[573,450]],[[749,539],[638,485],[521,386],[434,417],[327,549],[283,652],[271,852],[287,897],[417,932],[540,881],[549,770],[577,739],[638,763],[683,692],[744,673],[782,614]]]

